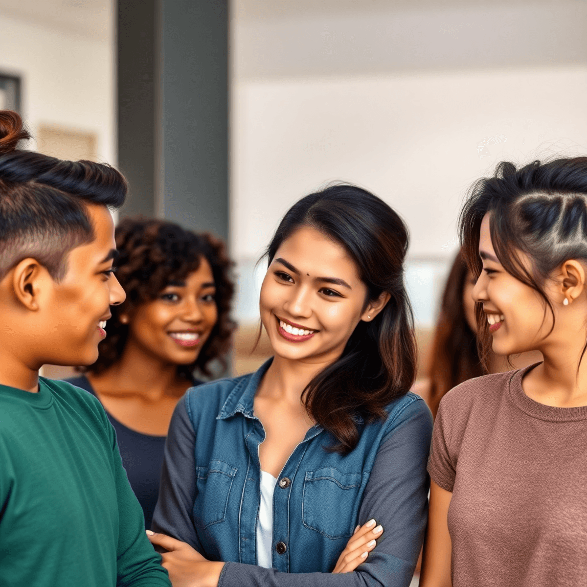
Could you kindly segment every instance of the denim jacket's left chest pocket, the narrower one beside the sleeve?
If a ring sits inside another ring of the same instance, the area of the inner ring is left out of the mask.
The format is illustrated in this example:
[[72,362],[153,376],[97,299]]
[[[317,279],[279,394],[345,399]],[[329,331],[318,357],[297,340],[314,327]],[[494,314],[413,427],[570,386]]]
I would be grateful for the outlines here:
[[237,468],[224,461],[210,461],[207,467],[196,467],[197,495],[194,501],[194,524],[207,528],[224,522],[228,497]]

